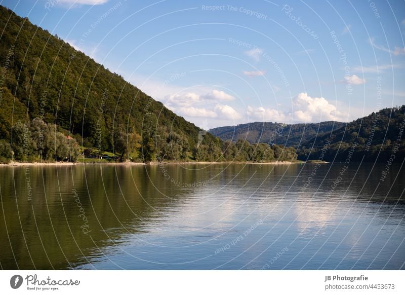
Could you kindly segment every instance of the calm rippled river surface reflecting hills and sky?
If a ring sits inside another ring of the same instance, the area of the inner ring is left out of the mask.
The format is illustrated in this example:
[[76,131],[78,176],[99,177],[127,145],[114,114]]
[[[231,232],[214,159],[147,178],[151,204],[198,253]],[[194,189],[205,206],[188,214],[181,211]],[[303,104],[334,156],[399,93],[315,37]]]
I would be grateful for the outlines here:
[[0,167],[1,268],[404,269],[404,168],[314,167]]

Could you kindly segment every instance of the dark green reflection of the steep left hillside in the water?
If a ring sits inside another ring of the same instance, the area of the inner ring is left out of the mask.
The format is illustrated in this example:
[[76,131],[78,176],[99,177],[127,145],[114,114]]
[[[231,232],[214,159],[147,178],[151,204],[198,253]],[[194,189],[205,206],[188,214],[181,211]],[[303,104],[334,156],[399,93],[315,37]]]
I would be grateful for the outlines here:
[[[187,193],[172,186],[156,168],[31,166],[32,201],[27,199],[24,167],[2,168],[2,267],[69,268],[69,263],[86,263],[85,256],[101,255],[97,248],[112,245],[111,240],[119,243],[123,235],[143,231],[149,220],[176,205],[176,199]],[[153,183],[145,169],[154,179]],[[181,181],[191,181],[195,176],[174,171],[173,175]],[[72,192],[73,189],[76,193]],[[177,190],[176,193],[173,190]],[[91,231],[88,235],[82,231],[85,222],[79,206],[88,220],[88,230]],[[6,220],[7,231],[3,220]]]

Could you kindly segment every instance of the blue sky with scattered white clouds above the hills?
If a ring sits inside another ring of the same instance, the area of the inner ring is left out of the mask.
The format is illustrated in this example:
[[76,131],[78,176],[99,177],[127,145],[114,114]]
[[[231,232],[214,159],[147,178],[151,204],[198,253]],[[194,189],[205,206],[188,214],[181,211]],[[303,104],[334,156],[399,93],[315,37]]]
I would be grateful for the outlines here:
[[405,102],[405,2],[2,1],[205,129]]

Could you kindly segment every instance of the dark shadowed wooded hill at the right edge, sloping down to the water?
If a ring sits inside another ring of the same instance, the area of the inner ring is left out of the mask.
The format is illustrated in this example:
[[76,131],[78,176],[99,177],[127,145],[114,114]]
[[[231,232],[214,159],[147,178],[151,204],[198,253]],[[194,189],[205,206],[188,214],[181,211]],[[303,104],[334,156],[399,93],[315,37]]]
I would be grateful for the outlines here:
[[404,127],[405,105],[384,108],[303,142],[297,153],[301,160],[345,162],[350,156],[350,162],[385,162],[392,158],[401,163],[405,157]]

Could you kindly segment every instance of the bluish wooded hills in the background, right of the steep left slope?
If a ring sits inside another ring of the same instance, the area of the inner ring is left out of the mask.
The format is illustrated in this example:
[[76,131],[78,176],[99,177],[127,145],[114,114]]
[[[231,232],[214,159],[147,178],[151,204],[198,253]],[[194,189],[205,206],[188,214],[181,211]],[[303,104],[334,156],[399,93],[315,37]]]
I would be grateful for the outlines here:
[[[320,122],[282,124],[254,122],[213,128],[210,132],[222,140],[242,138],[251,143],[294,147],[298,159],[345,162],[384,162],[405,157],[405,105],[384,108],[349,123]],[[402,133],[404,135],[402,135]]]

